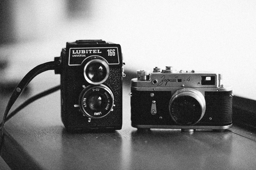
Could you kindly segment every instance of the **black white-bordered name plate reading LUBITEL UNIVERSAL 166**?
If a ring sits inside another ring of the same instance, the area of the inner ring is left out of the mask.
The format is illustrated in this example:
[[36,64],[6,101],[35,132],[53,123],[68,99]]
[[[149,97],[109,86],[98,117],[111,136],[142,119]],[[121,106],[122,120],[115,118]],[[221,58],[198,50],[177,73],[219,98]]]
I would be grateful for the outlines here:
[[97,48],[70,48],[68,65],[81,65],[89,57],[101,57],[108,64],[119,64],[119,53],[117,47]]

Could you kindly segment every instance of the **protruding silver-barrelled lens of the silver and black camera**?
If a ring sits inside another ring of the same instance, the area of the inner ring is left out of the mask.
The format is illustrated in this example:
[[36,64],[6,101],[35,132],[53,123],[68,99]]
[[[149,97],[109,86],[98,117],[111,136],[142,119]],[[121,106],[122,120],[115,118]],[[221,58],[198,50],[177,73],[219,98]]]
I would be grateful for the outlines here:
[[196,124],[204,116],[205,108],[204,96],[192,88],[175,92],[169,104],[170,115],[179,125]]

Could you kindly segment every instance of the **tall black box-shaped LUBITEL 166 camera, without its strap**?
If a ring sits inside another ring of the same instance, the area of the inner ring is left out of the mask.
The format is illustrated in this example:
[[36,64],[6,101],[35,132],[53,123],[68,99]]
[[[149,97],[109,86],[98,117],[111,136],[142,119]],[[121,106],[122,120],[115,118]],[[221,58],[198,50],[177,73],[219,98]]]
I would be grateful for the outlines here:
[[62,49],[61,117],[68,131],[122,128],[122,53],[102,40],[67,42]]

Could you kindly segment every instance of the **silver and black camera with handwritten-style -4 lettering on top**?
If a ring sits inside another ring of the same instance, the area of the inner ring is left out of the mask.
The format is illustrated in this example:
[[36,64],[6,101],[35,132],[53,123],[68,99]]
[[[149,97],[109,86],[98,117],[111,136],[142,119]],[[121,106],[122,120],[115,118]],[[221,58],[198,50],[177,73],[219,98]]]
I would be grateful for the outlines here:
[[136,128],[228,129],[232,126],[232,87],[211,72],[138,70],[131,80],[131,120]]

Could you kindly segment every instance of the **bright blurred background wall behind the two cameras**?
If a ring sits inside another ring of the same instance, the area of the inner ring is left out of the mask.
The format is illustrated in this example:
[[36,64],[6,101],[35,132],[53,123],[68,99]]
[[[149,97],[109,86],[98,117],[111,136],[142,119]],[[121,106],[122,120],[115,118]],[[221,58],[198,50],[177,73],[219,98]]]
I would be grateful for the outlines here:
[[121,45],[126,70],[214,70],[235,95],[256,100],[256,1],[2,0],[0,9],[11,78],[52,61],[67,41],[103,39]]

